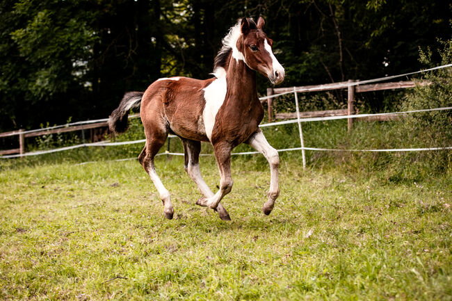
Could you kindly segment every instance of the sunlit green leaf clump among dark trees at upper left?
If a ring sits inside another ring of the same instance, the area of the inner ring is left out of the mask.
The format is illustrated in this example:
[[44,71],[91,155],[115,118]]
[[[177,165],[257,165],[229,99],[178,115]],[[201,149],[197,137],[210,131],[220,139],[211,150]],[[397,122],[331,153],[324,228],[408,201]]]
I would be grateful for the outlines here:
[[[17,3],[15,13],[26,14],[31,5],[30,1]],[[28,89],[35,101],[67,92],[73,84],[73,75],[86,72],[77,63],[89,58],[95,36],[86,21],[65,16],[63,12],[39,11],[25,28],[11,33],[19,56],[36,67],[35,73],[29,74]]]

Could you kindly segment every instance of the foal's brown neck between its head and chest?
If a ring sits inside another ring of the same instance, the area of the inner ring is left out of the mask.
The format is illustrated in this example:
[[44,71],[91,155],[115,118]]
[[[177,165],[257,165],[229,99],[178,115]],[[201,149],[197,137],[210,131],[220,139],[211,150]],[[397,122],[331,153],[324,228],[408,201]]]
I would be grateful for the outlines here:
[[236,108],[248,108],[257,101],[256,72],[243,60],[231,57],[226,72],[228,104]]

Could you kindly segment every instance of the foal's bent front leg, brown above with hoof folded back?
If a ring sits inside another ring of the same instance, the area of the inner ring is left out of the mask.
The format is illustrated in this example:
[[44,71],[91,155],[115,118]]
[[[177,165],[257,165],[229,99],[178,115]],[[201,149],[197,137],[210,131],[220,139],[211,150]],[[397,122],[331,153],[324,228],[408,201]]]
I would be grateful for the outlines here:
[[197,200],[196,204],[217,209],[221,199],[231,191],[232,184],[234,183],[231,177],[231,149],[231,145],[226,142],[213,145],[218,170],[220,170],[220,189],[212,197],[201,197],[200,200]]

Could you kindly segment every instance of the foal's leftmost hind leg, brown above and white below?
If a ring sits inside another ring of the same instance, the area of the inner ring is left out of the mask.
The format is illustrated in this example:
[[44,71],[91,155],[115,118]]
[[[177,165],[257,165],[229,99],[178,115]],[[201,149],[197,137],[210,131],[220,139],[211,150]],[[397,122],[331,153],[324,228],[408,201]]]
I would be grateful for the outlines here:
[[159,176],[156,174],[154,166],[154,156],[157,152],[159,152],[159,149],[163,146],[163,144],[165,144],[167,136],[168,133],[153,133],[152,136],[146,135],[146,145],[140,156],[138,156],[138,160],[141,165],[143,165],[143,168],[152,179],[154,186],[159,191],[160,198],[163,202],[163,213],[165,213],[165,217],[170,220],[172,219],[172,215],[174,213],[170,193],[165,186],[163,186]]

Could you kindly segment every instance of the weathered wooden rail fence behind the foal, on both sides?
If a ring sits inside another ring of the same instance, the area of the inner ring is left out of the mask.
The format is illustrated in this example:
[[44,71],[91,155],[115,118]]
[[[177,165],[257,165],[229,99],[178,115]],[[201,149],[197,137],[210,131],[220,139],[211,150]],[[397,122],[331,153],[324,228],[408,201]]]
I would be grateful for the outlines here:
[[[352,115],[355,113],[354,103],[355,103],[355,93],[360,92],[369,92],[369,91],[378,91],[378,90],[393,90],[393,89],[400,89],[400,88],[413,88],[417,84],[420,85],[426,85],[427,82],[422,83],[414,83],[414,81],[398,81],[398,82],[392,82],[392,83],[375,83],[371,85],[362,85],[362,86],[340,86],[341,84],[348,84],[353,83],[355,81],[344,81],[341,83],[329,83],[325,85],[317,85],[317,86],[302,86],[302,87],[291,87],[291,88],[268,88],[267,89],[267,96],[276,95],[278,93],[283,92],[293,92],[294,89],[297,92],[318,92],[318,91],[328,91],[328,90],[337,90],[337,89],[348,89],[348,107],[346,109],[339,109],[339,110],[329,110],[329,111],[313,111],[313,112],[302,112],[300,113],[300,117],[325,117],[325,116],[339,116],[339,115]],[[339,87],[338,87],[339,86]],[[274,113],[273,112],[273,98],[271,97],[269,99],[265,99],[262,102],[264,103],[267,101],[268,103],[268,122],[272,122],[274,118],[276,119],[293,119],[296,118],[296,113]],[[130,115],[129,117],[138,117],[138,114],[136,115]],[[394,120],[396,116],[387,115],[387,116],[378,116],[376,119],[375,117],[372,120]],[[367,117],[367,120],[371,120],[370,117]],[[353,125],[353,120],[350,118],[348,119],[348,129],[350,130]],[[0,156],[6,155],[6,154],[24,154],[25,153],[25,138],[31,138],[31,137],[37,137],[37,136],[44,136],[49,134],[58,134],[58,133],[67,133],[70,131],[81,131],[82,133],[82,139],[84,139],[84,131],[87,129],[90,129],[90,140],[93,141],[93,129],[99,129],[102,127],[108,127],[108,124],[106,121],[102,122],[93,122],[88,124],[76,124],[76,125],[70,125],[68,124],[67,127],[58,127],[56,129],[42,129],[42,130],[36,130],[36,131],[24,131],[24,129],[19,129],[16,131],[8,131],[5,133],[0,133],[0,138],[6,138],[10,136],[18,136],[19,137],[19,148],[15,149],[6,149],[6,150],[0,150]]]

